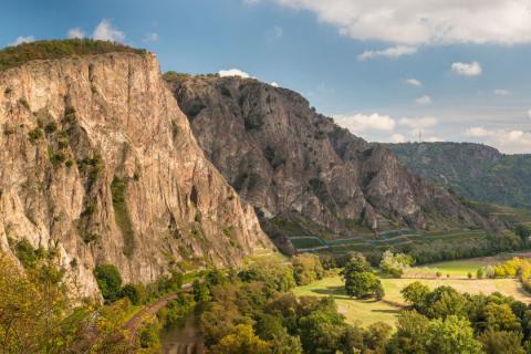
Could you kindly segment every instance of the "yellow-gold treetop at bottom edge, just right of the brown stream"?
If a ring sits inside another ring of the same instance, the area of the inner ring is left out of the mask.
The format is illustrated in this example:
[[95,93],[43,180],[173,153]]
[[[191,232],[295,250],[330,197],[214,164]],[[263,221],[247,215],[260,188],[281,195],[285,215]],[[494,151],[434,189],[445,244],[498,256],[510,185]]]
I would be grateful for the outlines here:
[[258,337],[252,326],[249,324],[239,324],[232,332],[214,345],[210,350],[212,354],[270,354],[271,346]]

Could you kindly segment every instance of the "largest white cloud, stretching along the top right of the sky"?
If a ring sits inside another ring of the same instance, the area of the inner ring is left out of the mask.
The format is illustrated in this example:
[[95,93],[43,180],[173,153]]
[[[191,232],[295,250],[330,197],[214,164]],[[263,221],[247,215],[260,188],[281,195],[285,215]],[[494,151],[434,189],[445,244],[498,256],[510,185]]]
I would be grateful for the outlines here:
[[[529,0],[274,0],[309,10],[356,40],[456,44],[531,42]],[[257,3],[258,0],[244,0]]]

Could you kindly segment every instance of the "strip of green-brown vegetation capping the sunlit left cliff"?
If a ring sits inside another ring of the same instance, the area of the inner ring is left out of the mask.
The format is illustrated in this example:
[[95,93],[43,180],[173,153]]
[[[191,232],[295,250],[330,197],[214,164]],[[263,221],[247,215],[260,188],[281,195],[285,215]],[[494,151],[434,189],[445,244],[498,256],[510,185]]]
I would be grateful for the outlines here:
[[17,46],[8,46],[1,50],[0,71],[20,66],[32,60],[62,59],[112,52],[146,53],[146,51],[142,49],[91,39],[37,41],[22,43]]

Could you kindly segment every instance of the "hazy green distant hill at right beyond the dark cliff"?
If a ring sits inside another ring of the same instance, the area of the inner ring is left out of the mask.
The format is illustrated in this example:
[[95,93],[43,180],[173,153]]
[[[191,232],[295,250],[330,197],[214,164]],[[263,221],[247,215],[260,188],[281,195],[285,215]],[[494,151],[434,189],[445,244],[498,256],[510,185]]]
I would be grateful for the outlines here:
[[504,155],[471,143],[388,146],[410,171],[466,197],[531,208],[531,154]]

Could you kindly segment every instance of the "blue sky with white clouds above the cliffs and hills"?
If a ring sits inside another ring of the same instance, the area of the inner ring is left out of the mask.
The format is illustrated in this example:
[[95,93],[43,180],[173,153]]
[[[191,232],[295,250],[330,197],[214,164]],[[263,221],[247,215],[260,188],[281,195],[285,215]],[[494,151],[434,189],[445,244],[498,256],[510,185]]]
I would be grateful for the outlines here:
[[257,77],[371,142],[531,153],[531,0],[2,0],[0,46],[96,38]]

